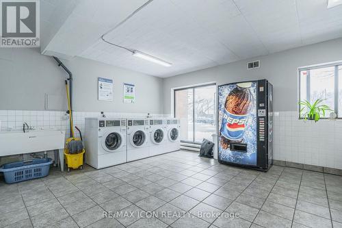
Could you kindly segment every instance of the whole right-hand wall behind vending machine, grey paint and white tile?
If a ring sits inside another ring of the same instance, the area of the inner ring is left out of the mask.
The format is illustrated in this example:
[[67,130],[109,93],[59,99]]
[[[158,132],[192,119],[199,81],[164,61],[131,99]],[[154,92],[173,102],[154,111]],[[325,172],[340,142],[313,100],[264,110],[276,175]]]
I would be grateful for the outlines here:
[[[261,67],[247,69],[247,62]],[[342,60],[342,38],[251,60],[195,71],[163,81],[164,114],[172,112],[172,88],[216,81],[268,79],[274,86],[274,159],[342,169],[342,121],[298,120],[298,67]]]

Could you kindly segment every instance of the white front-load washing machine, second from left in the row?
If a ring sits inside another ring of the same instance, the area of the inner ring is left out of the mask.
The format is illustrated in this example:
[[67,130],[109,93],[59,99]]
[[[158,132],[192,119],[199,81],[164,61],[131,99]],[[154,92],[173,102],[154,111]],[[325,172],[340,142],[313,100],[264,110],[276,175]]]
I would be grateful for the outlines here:
[[148,157],[150,127],[146,118],[127,118],[127,162]]

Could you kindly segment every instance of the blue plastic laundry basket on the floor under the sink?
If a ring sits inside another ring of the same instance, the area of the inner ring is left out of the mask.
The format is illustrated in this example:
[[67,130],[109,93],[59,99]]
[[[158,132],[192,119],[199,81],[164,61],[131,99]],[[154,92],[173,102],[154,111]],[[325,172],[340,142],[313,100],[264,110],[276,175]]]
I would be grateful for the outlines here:
[[36,179],[49,175],[51,158],[40,158],[24,162],[12,162],[3,164],[0,172],[3,172],[6,183],[16,183]]

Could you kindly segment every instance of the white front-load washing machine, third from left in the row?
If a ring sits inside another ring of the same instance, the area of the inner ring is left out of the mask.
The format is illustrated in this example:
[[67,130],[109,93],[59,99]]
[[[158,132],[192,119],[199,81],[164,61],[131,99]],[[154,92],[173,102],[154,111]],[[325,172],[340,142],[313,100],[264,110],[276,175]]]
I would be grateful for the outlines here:
[[166,125],[164,123],[165,120],[163,120],[163,118],[150,119],[150,156],[168,152],[168,150],[166,149],[166,138],[168,137],[168,134],[166,131]]

